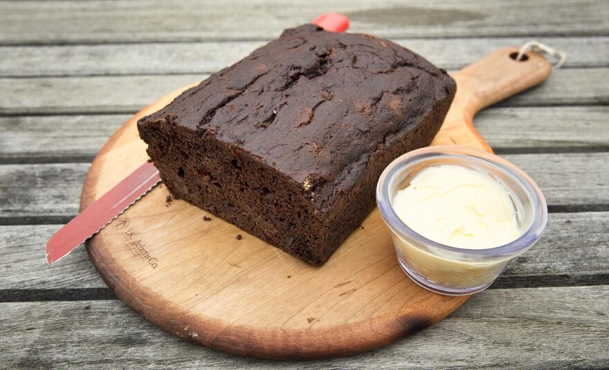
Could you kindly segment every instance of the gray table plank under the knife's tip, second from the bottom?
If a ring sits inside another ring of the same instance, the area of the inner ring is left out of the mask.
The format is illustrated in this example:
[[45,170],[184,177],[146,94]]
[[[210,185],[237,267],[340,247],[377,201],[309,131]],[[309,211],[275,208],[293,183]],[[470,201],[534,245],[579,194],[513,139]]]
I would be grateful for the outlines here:
[[[550,214],[540,241],[511,261],[493,288],[609,284],[608,221],[609,212]],[[46,241],[60,227],[0,226],[0,300],[47,297],[41,290],[61,295],[65,290],[106,288],[84,246],[46,264]]]

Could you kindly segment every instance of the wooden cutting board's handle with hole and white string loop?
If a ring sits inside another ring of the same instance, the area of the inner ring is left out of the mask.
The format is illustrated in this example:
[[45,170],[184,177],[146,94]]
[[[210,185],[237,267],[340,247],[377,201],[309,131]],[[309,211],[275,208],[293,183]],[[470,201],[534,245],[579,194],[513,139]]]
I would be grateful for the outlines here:
[[547,59],[533,51],[516,61],[518,47],[501,48],[453,75],[455,100],[431,145],[465,145],[493,152],[473,127],[481,109],[540,84],[552,73]]

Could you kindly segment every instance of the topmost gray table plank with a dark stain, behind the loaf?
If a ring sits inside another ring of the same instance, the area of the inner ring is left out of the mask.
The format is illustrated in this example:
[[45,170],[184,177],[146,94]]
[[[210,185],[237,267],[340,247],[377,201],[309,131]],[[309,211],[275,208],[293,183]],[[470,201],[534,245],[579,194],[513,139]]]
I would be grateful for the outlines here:
[[320,12],[382,37],[609,35],[603,0],[1,1],[1,44],[270,39]]

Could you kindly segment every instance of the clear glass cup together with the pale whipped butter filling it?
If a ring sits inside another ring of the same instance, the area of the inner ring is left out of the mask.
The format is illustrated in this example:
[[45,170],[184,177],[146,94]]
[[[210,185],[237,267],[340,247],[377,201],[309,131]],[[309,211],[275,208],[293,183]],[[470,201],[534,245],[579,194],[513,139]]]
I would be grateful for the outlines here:
[[376,186],[397,261],[435,293],[484,290],[543,233],[547,205],[534,181],[494,154],[437,146],[403,154]]

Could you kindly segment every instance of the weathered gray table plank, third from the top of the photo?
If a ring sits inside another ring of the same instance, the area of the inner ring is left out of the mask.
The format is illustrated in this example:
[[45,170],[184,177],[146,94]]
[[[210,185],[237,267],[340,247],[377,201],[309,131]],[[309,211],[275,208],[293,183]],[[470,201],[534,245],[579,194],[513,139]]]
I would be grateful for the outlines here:
[[[0,114],[133,113],[207,75],[0,78]],[[555,71],[502,107],[609,104],[609,68]]]

